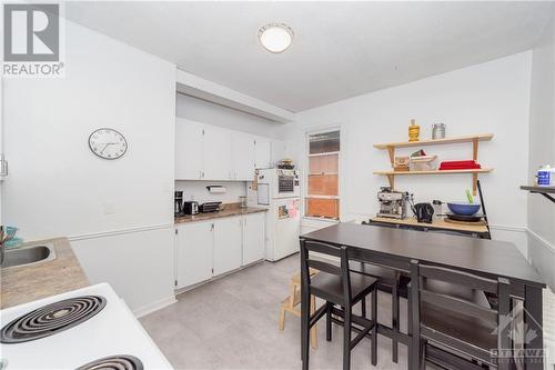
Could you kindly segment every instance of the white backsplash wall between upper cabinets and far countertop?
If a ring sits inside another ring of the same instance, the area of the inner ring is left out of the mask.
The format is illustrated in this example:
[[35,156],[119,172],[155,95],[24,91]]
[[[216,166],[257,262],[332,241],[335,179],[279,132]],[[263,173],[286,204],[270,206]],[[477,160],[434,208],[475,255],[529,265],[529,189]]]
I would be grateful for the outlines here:
[[[222,186],[226,188],[225,193],[213,194],[208,191],[209,186]],[[245,181],[175,181],[175,190],[183,191],[184,200],[204,202],[239,202],[239,197],[246,194]]]

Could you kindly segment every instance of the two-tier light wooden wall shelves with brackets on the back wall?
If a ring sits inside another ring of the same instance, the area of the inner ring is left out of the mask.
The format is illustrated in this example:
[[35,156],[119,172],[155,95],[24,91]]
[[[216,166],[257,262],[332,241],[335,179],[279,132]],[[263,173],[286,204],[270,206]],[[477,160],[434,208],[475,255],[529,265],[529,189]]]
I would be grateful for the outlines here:
[[[440,146],[440,144],[452,144],[462,142],[472,142],[472,158],[477,161],[478,159],[478,142],[490,141],[493,139],[493,133],[478,133],[465,137],[453,137],[436,140],[420,140],[420,141],[397,141],[397,142],[386,142],[374,144],[376,149],[386,149],[390,154],[391,168],[393,169],[395,162],[395,149],[396,148],[410,148],[410,147],[427,147],[427,146]],[[492,172],[492,168],[482,169],[470,169],[470,170],[432,170],[432,171],[374,171],[374,174],[386,176],[390,181],[392,189],[395,187],[395,176],[406,176],[406,174],[451,174],[451,173],[471,173],[472,174],[472,191],[474,196],[476,194],[477,187],[476,182],[478,180],[478,173]]]

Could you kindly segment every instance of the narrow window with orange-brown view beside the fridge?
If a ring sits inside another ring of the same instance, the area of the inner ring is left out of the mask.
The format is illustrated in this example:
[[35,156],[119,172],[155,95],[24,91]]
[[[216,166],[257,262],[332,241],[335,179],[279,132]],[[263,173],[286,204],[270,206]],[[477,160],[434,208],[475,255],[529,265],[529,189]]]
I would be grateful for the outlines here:
[[309,134],[305,216],[340,219],[340,131]]

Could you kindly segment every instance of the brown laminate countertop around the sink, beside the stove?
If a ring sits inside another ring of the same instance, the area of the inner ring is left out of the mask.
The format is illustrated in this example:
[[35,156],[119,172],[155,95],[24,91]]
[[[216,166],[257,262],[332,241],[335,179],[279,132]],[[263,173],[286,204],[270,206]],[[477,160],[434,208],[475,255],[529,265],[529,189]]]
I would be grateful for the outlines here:
[[23,247],[51,243],[56,259],[27,267],[1,269],[1,308],[88,287],[87,279],[67,238],[27,242]]

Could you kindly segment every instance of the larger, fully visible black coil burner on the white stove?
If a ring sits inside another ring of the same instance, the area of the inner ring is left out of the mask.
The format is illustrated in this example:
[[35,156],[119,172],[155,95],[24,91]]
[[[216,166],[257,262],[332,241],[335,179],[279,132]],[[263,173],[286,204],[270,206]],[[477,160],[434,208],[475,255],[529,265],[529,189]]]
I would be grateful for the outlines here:
[[83,296],[43,306],[4,326],[0,343],[21,343],[53,336],[92,318],[105,303],[104,297]]

